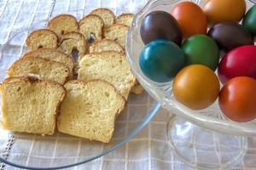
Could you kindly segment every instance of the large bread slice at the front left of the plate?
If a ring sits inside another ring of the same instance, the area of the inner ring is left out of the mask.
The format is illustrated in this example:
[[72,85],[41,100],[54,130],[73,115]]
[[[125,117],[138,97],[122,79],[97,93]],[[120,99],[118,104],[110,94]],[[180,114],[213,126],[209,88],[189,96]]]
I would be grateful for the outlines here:
[[61,84],[35,77],[9,77],[1,88],[4,129],[43,135],[55,132],[55,116],[66,94]]

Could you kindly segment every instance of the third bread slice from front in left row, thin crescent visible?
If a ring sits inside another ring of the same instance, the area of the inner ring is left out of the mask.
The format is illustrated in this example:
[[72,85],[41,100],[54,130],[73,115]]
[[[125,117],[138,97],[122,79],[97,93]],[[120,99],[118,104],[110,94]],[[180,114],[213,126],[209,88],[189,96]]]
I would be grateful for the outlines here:
[[73,75],[73,67],[74,67],[73,59],[69,57],[67,54],[61,53],[57,49],[39,48],[39,49],[27,52],[22,57],[40,57],[43,59],[49,59],[49,60],[60,62],[63,65],[66,65],[68,67],[68,70],[71,76]]

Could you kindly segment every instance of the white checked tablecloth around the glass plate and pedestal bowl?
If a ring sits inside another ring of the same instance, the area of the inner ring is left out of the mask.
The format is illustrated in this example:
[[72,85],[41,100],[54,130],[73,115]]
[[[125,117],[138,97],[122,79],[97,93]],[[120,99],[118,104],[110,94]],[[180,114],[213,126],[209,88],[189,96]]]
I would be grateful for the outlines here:
[[[146,2],[147,0],[0,0],[0,44],[15,35],[20,28],[31,26],[38,20],[47,20],[55,14],[84,7],[111,8],[115,14],[137,13]],[[192,169],[174,156],[167,142],[166,121],[169,116],[167,111],[161,109],[135,139],[131,139],[119,150],[70,169]],[[248,142],[249,149],[244,161],[234,169],[256,169],[256,138],[248,139]],[[0,163],[0,169],[14,167]]]

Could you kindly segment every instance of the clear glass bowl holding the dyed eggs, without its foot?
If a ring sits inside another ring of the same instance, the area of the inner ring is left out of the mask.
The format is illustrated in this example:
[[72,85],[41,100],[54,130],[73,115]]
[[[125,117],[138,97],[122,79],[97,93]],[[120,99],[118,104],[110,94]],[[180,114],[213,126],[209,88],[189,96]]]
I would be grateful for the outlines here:
[[[218,100],[213,105],[205,110],[192,111],[186,106],[177,102],[172,94],[172,82],[153,82],[143,75],[138,59],[144,47],[143,41],[140,37],[140,26],[146,14],[155,10],[164,10],[170,12],[176,3],[188,0],[151,0],[141,10],[132,22],[132,26],[128,31],[126,50],[128,59],[132,65],[132,70],[135,73],[137,80],[143,85],[148,93],[157,101],[160,102],[164,108],[177,116],[182,116],[189,122],[193,122],[200,127],[205,127],[220,133],[229,133],[241,136],[255,136],[256,122],[232,122],[224,117],[222,111],[218,107]],[[203,6],[206,0],[190,0]],[[254,0],[247,0],[247,9],[255,4]]]

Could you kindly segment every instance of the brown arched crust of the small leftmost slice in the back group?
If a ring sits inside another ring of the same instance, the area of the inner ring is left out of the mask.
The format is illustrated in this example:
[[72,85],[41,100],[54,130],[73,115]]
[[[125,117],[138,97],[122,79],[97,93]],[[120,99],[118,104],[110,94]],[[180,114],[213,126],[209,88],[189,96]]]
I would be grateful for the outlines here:
[[[46,34],[51,34],[53,37],[54,37],[54,41],[55,41],[55,46],[53,48],[56,48],[57,47],[57,43],[58,43],[58,37],[57,35],[55,34],[54,31],[51,31],[49,29],[38,29],[38,30],[35,30],[35,31],[32,31],[27,37],[26,37],[26,46],[30,49],[32,49],[32,36],[34,36],[35,34],[37,34],[38,32],[44,32]],[[43,47],[44,48],[44,47]]]

